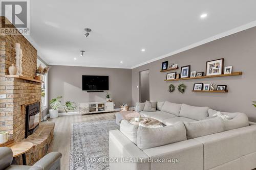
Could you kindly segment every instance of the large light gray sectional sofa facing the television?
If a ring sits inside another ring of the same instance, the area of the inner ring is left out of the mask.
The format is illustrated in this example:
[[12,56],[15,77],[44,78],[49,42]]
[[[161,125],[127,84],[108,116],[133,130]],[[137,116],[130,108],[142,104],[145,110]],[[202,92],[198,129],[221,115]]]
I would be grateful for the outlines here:
[[166,126],[148,129],[122,120],[121,131],[110,131],[110,158],[116,159],[111,170],[256,168],[256,125],[246,114],[167,101],[159,102],[155,112],[141,105],[136,106],[141,116]]

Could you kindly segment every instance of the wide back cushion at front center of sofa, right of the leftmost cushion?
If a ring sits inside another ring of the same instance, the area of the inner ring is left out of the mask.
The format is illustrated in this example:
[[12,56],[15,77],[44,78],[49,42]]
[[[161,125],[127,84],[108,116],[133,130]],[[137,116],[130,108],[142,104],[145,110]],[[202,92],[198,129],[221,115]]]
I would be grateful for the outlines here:
[[139,127],[137,131],[137,147],[141,150],[186,139],[186,129],[182,122],[155,129]]

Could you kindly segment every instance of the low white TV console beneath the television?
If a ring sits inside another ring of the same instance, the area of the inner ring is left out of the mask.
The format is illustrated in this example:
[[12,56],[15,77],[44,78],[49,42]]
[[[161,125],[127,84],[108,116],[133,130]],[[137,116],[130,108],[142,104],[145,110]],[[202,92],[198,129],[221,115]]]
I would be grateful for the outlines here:
[[114,102],[90,102],[78,104],[79,114],[104,113],[113,111]]

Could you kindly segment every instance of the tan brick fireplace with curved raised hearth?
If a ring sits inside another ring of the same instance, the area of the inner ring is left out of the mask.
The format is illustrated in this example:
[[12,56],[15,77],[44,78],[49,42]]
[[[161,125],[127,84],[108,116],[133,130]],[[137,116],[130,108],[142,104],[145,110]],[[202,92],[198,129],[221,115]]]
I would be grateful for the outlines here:
[[[10,21],[0,16],[0,28],[7,27],[6,23]],[[14,28],[12,25],[10,27]],[[15,63],[15,43],[20,43],[20,48],[23,50],[24,77],[9,75],[8,68]],[[14,142],[33,143],[33,148],[26,153],[29,165],[34,164],[47,153],[54,129],[54,123],[40,123],[41,81],[34,80],[36,67],[37,50],[22,34],[0,33],[0,132],[8,131],[9,139],[14,139]],[[37,106],[33,107],[35,105]],[[33,112],[33,109],[36,111]],[[25,139],[26,114],[27,118],[31,118],[27,132],[35,133]],[[33,122],[32,120],[35,119],[36,121]],[[19,164],[22,163],[20,157],[16,157],[15,160]]]

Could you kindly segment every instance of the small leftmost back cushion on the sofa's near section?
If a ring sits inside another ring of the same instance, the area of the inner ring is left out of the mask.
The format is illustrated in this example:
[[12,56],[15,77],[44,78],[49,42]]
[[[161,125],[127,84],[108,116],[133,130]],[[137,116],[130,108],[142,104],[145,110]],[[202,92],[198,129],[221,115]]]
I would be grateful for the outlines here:
[[136,144],[138,127],[138,125],[133,125],[128,120],[123,119],[120,124],[120,132]]

